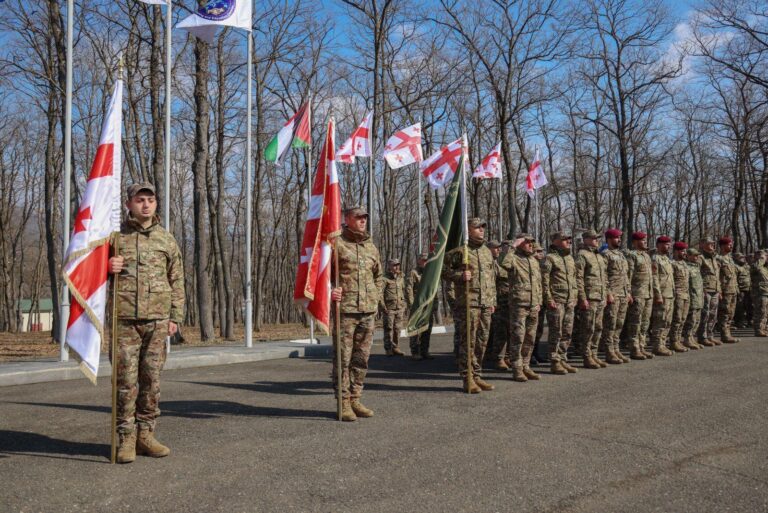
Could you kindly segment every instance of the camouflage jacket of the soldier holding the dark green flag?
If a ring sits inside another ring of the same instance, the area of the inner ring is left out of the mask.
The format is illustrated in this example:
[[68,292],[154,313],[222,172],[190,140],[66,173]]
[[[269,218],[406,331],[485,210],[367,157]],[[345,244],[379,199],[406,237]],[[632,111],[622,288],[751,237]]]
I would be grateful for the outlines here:
[[[469,265],[467,270],[472,273],[469,286],[469,306],[496,306],[496,262],[491,250],[485,244],[470,241],[467,248]],[[454,284],[455,302],[457,307],[466,305],[466,289],[464,288],[464,247],[459,246],[445,255],[443,264],[443,279]]]

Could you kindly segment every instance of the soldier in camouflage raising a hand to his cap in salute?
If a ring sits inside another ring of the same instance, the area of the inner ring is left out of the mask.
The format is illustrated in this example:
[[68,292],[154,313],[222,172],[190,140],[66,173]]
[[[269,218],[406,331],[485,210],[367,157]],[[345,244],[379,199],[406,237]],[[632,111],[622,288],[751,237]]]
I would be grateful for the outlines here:
[[507,253],[501,266],[509,279],[509,352],[514,381],[538,380],[531,370],[533,339],[541,309],[541,265],[533,256],[532,235],[517,236],[517,247]]

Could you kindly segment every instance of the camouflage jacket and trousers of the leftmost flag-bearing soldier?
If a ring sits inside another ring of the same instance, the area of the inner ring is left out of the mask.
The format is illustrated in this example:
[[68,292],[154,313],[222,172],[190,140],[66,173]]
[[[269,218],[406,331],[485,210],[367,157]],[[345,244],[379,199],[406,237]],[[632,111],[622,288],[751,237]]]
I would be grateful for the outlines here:
[[154,431],[168,323],[184,319],[184,269],[176,240],[156,218],[120,228],[124,267],[117,282],[117,430]]

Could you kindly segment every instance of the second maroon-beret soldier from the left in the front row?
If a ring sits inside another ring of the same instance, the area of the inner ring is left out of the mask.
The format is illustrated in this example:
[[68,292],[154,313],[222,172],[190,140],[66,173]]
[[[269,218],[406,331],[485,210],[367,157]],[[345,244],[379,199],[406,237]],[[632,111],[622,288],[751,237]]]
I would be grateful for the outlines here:
[[653,275],[648,255],[648,236],[643,232],[632,234],[632,249],[627,253],[632,303],[627,311],[627,340],[629,357],[633,360],[653,358],[645,346],[645,336],[651,321],[653,301]]

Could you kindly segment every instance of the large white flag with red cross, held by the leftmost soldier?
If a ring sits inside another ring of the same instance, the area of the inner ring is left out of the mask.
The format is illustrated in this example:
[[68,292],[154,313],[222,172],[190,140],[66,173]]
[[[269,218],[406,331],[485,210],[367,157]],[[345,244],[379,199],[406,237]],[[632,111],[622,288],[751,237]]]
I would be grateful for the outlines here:
[[123,82],[118,80],[63,266],[64,281],[74,299],[65,340],[94,384],[104,339],[109,242],[120,231],[122,105]]

